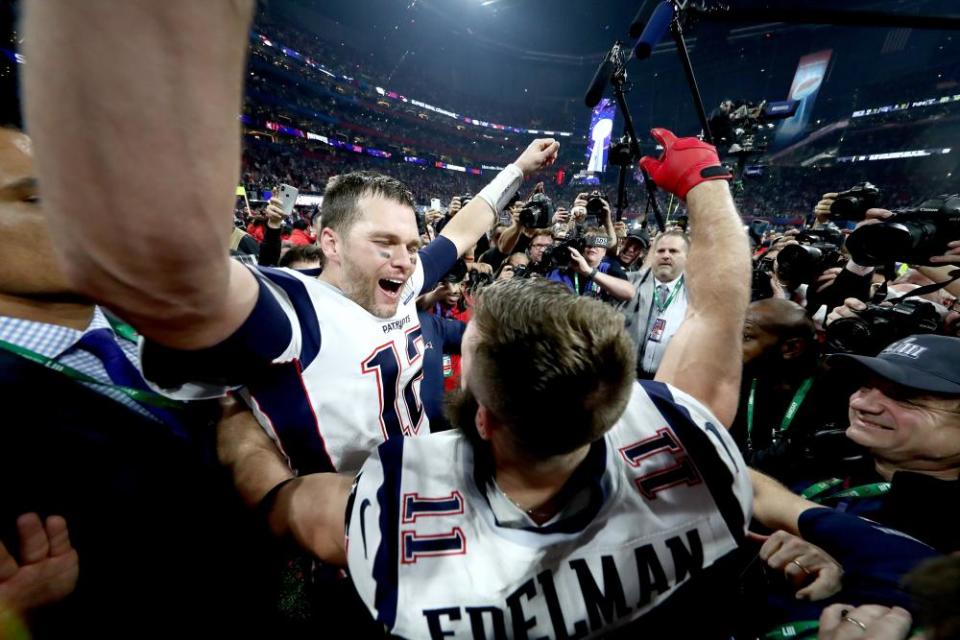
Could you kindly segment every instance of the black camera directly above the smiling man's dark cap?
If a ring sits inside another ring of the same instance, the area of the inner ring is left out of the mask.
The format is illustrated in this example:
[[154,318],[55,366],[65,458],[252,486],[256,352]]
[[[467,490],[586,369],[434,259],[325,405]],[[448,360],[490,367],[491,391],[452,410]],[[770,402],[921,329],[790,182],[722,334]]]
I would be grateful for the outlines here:
[[917,298],[896,304],[868,304],[856,318],[827,325],[827,351],[875,356],[887,345],[917,333],[935,333],[940,314],[932,303]]

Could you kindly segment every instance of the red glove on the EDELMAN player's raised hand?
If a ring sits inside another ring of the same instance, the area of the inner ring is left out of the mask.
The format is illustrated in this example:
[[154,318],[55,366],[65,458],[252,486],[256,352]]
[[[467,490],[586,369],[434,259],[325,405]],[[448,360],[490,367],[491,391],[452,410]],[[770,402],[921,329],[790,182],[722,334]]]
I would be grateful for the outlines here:
[[733,178],[720,164],[712,144],[698,138],[677,138],[666,129],[651,129],[650,135],[663,146],[663,155],[659,159],[644,156],[640,166],[661,189],[686,198],[701,182]]

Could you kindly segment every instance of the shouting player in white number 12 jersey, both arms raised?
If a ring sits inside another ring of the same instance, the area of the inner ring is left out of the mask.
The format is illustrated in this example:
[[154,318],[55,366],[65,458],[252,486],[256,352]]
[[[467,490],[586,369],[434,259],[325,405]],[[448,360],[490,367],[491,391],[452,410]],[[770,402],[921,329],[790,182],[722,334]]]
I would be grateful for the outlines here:
[[[247,476],[240,486],[251,502],[292,472],[356,471],[385,439],[429,431],[414,299],[559,146],[534,141],[422,251],[406,188],[349,174],[326,191],[320,280],[229,260],[222,230],[238,180],[235,114],[253,6],[36,3],[25,16],[38,71],[27,73],[28,111],[44,198],[51,210],[65,207],[51,229],[67,273],[146,337],[145,375],[168,395],[245,387],[287,462]],[[42,45],[52,34],[60,44]],[[101,73],[113,79],[77,85]],[[95,117],[78,127],[83,113]],[[130,126],[114,126],[118,119]],[[107,200],[103,185],[116,187]],[[170,212],[175,237],[157,232]],[[243,455],[269,459],[261,453]]]

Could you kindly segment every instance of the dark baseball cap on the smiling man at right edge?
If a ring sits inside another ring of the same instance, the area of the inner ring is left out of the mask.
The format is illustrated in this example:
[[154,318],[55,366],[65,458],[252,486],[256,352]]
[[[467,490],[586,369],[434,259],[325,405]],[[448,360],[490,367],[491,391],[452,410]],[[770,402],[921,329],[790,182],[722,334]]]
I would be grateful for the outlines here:
[[960,338],[919,334],[897,340],[876,357],[834,354],[827,364],[869,371],[911,389],[960,395]]

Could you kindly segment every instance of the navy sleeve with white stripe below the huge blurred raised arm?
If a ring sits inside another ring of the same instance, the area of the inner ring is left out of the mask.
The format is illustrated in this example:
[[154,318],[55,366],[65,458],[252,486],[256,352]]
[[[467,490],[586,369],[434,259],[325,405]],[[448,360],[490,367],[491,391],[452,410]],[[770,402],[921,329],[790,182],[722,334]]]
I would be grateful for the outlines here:
[[222,395],[270,365],[293,358],[309,364],[320,345],[316,311],[298,276],[253,269],[260,286],[243,324],[220,344],[185,351],[144,339],[144,378],[165,395],[183,400]]

